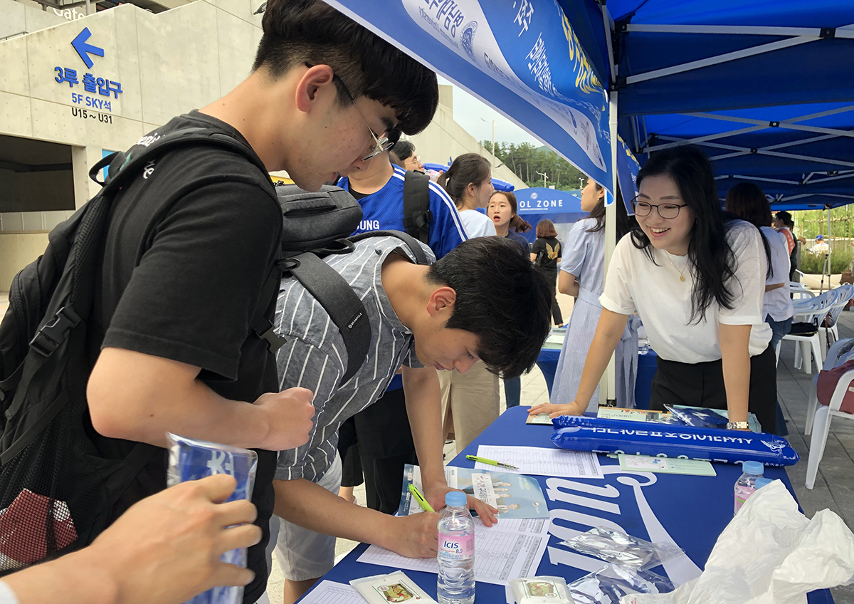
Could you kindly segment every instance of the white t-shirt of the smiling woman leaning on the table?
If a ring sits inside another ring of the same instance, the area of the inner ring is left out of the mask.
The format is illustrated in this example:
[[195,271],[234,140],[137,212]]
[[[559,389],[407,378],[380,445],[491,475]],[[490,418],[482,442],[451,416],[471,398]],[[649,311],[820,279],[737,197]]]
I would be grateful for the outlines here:
[[[733,308],[721,308],[712,301],[705,309],[705,320],[691,322],[693,274],[687,256],[651,248],[653,263],[643,249],[635,248],[630,234],[614,249],[599,298],[602,308],[618,314],[637,311],[652,349],[667,361],[693,364],[720,359],[721,323],[752,325],[750,355],[762,354],[771,340],[771,328],[762,314],[768,267],[762,237],[743,220],[730,222],[726,237],[736,259],[735,278],[728,282]],[[684,282],[679,280],[680,272]]]

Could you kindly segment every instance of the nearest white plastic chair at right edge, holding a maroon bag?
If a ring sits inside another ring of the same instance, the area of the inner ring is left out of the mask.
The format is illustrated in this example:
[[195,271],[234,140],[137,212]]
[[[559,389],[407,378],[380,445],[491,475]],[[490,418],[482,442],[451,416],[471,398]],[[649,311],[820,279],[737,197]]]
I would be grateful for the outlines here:
[[[824,364],[825,369],[839,367],[845,361],[850,361],[854,358],[854,339],[848,338],[839,340],[834,343],[828,350],[828,361]],[[836,383],[833,396],[830,397],[828,405],[819,405],[816,396],[816,384],[818,376],[813,378],[813,384],[810,388],[810,403],[807,407],[807,419],[805,434],[812,432],[810,439],[810,455],[806,462],[806,488],[812,489],[816,484],[816,474],[818,473],[818,464],[824,456],[824,446],[828,442],[828,434],[830,433],[830,421],[834,417],[843,419],[854,419],[851,413],[841,411],[842,400],[845,398],[845,393],[849,390],[854,391],[854,370],[845,372]],[[816,409],[817,407],[817,409]],[[813,430],[815,428],[815,430]]]

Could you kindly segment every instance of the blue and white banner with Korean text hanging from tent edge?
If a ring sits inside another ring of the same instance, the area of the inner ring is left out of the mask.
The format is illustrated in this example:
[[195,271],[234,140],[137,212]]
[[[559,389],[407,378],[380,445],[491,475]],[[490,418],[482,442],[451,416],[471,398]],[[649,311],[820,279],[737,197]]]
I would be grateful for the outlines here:
[[[553,0],[330,0],[611,183],[605,91]],[[606,185],[609,186],[609,185]]]

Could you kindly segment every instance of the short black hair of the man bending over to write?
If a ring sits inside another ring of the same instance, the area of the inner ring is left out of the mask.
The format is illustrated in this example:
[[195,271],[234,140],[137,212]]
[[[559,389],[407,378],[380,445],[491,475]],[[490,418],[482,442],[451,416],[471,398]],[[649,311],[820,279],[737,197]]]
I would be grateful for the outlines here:
[[477,335],[477,355],[490,372],[516,378],[534,367],[552,328],[552,292],[518,243],[469,239],[430,267],[427,279],[457,292],[445,326]]

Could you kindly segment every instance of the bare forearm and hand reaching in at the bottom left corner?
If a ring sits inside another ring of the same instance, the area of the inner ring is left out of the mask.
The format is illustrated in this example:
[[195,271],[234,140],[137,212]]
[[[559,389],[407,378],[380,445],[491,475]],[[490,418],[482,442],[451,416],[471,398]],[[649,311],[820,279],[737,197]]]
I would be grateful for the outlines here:
[[235,486],[215,474],[138,501],[89,547],[0,579],[0,604],[180,604],[248,584],[252,571],[219,561],[261,538],[252,503],[222,503]]

